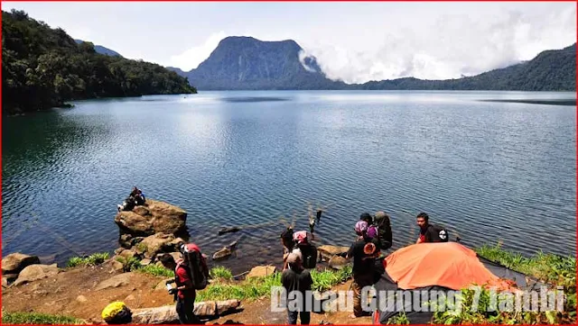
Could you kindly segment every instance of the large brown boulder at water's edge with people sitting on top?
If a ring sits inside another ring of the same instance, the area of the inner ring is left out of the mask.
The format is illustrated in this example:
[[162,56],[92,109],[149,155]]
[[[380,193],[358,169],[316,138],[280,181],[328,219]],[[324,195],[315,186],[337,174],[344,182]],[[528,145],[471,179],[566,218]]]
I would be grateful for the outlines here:
[[154,233],[178,233],[185,229],[187,213],[181,207],[152,199],[132,211],[117,213],[118,227],[130,234],[146,236]]

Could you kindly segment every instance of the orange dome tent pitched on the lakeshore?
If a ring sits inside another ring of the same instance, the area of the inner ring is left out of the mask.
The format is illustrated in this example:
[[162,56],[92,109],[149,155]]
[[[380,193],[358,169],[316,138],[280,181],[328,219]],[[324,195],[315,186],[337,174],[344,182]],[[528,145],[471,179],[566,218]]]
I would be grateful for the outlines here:
[[387,275],[402,289],[440,285],[459,290],[471,284],[511,289],[483,266],[475,251],[457,242],[414,244],[391,253],[386,264]]

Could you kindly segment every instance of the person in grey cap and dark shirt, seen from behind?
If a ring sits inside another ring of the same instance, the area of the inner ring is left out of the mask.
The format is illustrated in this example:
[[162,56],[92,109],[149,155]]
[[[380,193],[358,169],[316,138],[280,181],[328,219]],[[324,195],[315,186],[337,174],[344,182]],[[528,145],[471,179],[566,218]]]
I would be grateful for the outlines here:
[[[309,324],[311,312],[305,306],[306,295],[311,295],[313,280],[309,271],[303,268],[302,259],[298,253],[292,252],[287,256],[288,268],[284,269],[281,276],[281,284],[287,294],[287,323],[297,324],[297,313],[299,312],[301,324]],[[312,299],[312,298],[310,298]]]

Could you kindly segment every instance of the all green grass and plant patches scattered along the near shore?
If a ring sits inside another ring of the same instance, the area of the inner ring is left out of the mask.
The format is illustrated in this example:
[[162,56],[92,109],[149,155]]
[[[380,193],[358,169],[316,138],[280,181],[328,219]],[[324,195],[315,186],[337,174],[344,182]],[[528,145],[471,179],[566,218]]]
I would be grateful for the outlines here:
[[[471,290],[462,289],[461,294],[466,300],[462,303],[461,312],[435,312],[433,324],[557,324],[573,323],[576,319],[576,258],[562,257],[554,254],[536,252],[532,257],[524,257],[501,248],[497,245],[484,245],[475,248],[480,257],[499,263],[512,270],[536,278],[552,288],[564,286],[564,312],[470,312],[472,304]],[[98,266],[107,261],[109,254],[95,253],[86,258],[70,258],[66,270],[72,268],[86,268]],[[174,276],[171,270],[154,265],[141,266],[140,260],[129,265],[129,271],[170,278]],[[197,293],[196,302],[238,299],[250,303],[259,298],[270,296],[271,286],[281,285],[281,273],[276,272],[269,276],[252,277],[237,280],[226,267],[212,267],[210,269],[211,282],[206,289]],[[312,270],[312,289],[324,292],[332,287],[346,282],[351,276],[351,268],[341,270],[325,269]],[[489,293],[483,291],[481,301],[489,301]],[[75,324],[84,323],[74,316],[51,315],[38,312],[5,312],[3,308],[3,323],[34,323],[34,324]],[[389,321],[390,323],[407,323],[403,314]],[[347,321],[346,321],[347,323]]]

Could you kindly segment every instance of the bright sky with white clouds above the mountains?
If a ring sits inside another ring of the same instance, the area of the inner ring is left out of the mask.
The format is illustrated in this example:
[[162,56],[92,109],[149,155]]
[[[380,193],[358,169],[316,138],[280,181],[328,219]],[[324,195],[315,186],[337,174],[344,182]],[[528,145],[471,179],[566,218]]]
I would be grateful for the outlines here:
[[472,76],[576,41],[572,2],[2,2],[75,39],[189,71],[227,36],[296,41],[347,83]]

